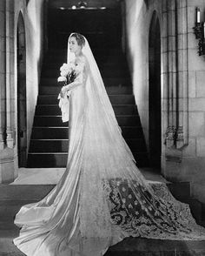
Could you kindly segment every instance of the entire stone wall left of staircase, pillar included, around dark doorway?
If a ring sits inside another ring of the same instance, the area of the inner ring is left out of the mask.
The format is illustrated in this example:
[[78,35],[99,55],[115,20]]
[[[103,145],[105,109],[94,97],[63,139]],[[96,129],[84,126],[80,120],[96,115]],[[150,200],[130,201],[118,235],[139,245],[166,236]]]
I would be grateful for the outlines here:
[[[17,177],[17,21],[26,41],[27,136],[30,141],[43,56],[43,0],[0,1],[0,183]],[[29,148],[29,145],[28,147]]]

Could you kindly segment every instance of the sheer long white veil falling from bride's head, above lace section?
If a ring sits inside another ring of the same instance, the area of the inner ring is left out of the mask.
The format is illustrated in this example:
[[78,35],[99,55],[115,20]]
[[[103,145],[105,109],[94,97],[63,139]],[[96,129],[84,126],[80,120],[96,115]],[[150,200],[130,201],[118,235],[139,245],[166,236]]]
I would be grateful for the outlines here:
[[[69,37],[72,37],[71,34]],[[88,63],[88,78],[85,86],[87,100],[85,101],[86,118],[83,128],[83,154],[81,185],[80,230],[85,237],[93,238],[90,246],[99,246],[99,242],[108,243],[109,239],[119,239],[121,232],[116,232],[110,226],[110,212],[104,186],[110,180],[134,179],[137,168],[135,158],[122,138],[122,131],[116,121],[115,112],[105,90],[101,73],[95,57],[84,37],[83,56]],[[68,63],[75,56],[69,51]],[[126,163],[127,161],[127,163]],[[128,168],[132,172],[128,172]],[[138,179],[142,175],[138,172]],[[88,204],[90,200],[91,205]],[[103,228],[102,228],[103,227]],[[100,238],[100,241],[99,241]],[[94,241],[95,240],[95,241]]]

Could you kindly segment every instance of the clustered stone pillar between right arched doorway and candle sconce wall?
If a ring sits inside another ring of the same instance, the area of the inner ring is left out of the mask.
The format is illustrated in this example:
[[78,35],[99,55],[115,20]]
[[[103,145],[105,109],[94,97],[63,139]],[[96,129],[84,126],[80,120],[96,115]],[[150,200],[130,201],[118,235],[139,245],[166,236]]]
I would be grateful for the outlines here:
[[162,37],[165,143],[167,148],[181,149],[188,144],[187,0],[163,1],[162,22],[166,24]]

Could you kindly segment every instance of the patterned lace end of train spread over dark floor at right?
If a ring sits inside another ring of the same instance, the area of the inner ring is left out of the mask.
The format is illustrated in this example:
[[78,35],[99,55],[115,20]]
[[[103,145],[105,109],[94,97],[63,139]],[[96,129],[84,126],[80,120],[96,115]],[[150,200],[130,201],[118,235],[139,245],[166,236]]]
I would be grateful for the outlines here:
[[189,206],[177,201],[164,184],[145,186],[128,179],[103,181],[112,223],[134,237],[199,239],[204,228],[193,219]]

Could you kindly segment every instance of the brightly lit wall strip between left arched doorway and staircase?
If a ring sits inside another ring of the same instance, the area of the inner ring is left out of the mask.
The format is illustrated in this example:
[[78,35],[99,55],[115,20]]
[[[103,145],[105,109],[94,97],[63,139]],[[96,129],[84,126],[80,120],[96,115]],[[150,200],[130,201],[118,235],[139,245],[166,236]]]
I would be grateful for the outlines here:
[[24,18],[26,34],[27,153],[43,61],[43,2],[43,0],[27,1],[27,12]]

